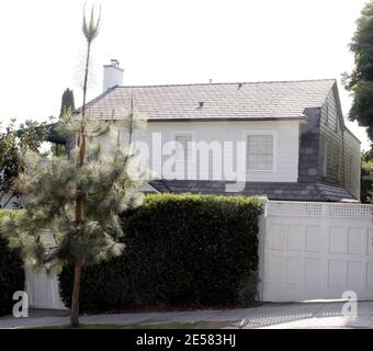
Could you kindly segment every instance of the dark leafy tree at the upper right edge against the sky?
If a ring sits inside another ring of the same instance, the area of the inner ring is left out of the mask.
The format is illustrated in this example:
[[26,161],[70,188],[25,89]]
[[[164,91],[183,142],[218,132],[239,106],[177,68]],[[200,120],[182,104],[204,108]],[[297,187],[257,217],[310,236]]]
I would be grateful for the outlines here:
[[350,44],[355,68],[350,75],[343,75],[343,83],[353,94],[350,120],[368,127],[373,141],[373,0],[364,5],[357,24]]

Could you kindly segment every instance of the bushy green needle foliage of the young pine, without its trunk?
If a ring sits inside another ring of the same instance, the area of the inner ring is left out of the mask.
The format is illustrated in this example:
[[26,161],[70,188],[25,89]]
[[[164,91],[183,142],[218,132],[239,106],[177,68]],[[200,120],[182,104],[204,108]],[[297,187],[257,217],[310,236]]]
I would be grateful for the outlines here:
[[[122,245],[116,242],[122,235],[118,214],[138,205],[142,199],[137,191],[142,179],[129,165],[136,155],[120,141],[110,149],[93,143],[97,134],[104,132],[116,140],[117,131],[108,124],[87,122],[86,131],[92,143],[80,167],[77,149],[69,159],[30,150],[24,155],[24,170],[15,188],[29,200],[15,217],[3,218],[2,230],[11,247],[22,248],[26,263],[57,268],[81,258],[91,264],[122,251]],[[84,196],[83,225],[75,219],[78,190]],[[56,240],[53,251],[46,250],[41,240],[43,228],[53,229]]]

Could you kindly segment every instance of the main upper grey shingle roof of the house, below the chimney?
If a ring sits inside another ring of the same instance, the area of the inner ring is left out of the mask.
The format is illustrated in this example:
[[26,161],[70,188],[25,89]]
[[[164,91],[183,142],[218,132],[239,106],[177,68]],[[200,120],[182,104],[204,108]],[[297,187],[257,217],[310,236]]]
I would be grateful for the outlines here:
[[149,121],[302,118],[306,107],[319,107],[334,79],[115,87],[92,100],[92,117],[114,118],[135,110]]

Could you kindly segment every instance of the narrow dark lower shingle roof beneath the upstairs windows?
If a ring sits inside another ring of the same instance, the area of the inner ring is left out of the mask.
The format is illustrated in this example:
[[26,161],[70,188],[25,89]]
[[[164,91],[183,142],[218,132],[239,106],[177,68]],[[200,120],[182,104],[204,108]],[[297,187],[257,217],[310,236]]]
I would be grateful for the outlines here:
[[344,189],[321,183],[247,182],[240,192],[226,192],[225,181],[154,180],[151,186],[159,192],[201,193],[215,195],[267,195],[269,200],[340,202],[354,200]]

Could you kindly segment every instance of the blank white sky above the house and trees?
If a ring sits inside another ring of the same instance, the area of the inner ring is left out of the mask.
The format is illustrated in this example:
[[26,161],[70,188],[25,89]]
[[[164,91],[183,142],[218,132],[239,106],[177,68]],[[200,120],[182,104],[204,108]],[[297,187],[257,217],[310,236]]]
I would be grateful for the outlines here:
[[[81,104],[80,0],[1,0],[0,118],[58,115],[65,88]],[[89,5],[92,2],[88,2]],[[99,3],[99,2],[97,2]],[[124,84],[336,78],[365,0],[102,0],[89,98],[117,58]],[[347,123],[369,148],[364,128]]]

